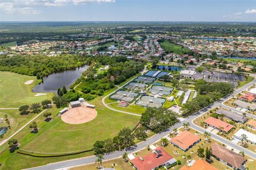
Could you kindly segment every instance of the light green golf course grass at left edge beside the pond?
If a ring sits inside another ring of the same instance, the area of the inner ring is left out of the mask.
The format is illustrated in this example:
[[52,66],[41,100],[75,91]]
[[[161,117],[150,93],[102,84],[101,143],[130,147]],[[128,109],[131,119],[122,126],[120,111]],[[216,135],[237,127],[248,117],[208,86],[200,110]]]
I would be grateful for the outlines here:
[[[25,82],[34,80],[26,85]],[[24,104],[39,103],[45,99],[51,99],[53,94],[35,97],[31,92],[39,82],[36,77],[21,75],[12,72],[0,72],[0,108],[19,107]]]

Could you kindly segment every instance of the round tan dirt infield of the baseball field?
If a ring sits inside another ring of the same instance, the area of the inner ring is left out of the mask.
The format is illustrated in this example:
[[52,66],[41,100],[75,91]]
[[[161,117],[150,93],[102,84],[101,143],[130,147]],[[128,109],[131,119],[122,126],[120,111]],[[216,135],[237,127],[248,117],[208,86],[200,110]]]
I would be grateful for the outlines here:
[[68,124],[82,124],[92,121],[97,116],[97,111],[89,107],[75,107],[61,115],[61,120]]

